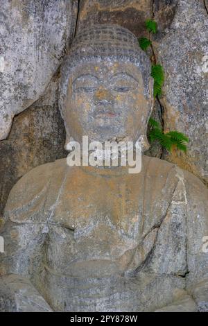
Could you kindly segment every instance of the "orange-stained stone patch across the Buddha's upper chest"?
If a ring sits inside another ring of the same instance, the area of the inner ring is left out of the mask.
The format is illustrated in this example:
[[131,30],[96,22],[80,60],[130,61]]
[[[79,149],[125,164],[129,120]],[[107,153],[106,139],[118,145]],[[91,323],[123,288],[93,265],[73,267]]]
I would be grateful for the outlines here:
[[[60,203],[57,214],[59,209],[70,212],[65,223],[73,225],[85,224],[98,212],[102,216],[109,216],[115,225],[122,223],[124,228],[130,216],[132,223],[136,222],[141,175],[135,178],[135,175],[128,173],[128,167],[121,168],[119,173],[116,169],[116,175],[112,174],[110,169],[98,170],[92,166],[72,169],[62,193],[64,207]],[[67,215],[61,211],[62,216]]]

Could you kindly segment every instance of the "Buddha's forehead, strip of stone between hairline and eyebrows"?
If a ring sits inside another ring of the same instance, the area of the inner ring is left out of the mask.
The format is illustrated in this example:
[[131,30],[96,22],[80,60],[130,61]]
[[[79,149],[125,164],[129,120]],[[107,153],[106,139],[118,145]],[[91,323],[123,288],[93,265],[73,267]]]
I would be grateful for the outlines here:
[[141,71],[132,62],[122,61],[92,61],[77,65],[71,74],[72,81],[77,78],[96,77],[98,79],[109,79],[118,76],[119,78],[133,78],[137,81],[142,79]]

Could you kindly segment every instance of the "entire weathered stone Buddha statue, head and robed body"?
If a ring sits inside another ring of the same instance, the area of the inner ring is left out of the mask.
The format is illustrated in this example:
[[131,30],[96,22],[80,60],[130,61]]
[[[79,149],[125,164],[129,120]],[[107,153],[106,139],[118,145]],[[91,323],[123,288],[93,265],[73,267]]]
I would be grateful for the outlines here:
[[[61,70],[67,141],[142,139],[150,62],[130,31],[95,25]],[[207,189],[142,155],[128,166],[38,166],[13,187],[1,235],[1,310],[208,311]]]

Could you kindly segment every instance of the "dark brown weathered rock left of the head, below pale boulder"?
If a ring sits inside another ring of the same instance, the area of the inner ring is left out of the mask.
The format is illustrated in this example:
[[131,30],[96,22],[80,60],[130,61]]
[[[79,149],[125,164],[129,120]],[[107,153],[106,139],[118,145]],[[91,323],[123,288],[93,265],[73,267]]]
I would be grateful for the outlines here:
[[57,93],[55,76],[40,100],[15,117],[8,139],[0,142],[0,216],[10,189],[22,175],[67,155]]

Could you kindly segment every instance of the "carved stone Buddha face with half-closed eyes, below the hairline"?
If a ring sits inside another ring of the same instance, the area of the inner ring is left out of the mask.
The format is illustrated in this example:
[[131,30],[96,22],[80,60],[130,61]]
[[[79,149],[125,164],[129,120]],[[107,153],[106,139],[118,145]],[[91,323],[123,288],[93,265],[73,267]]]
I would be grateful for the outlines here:
[[[152,80],[150,80],[152,82]],[[130,62],[99,61],[78,65],[69,79],[65,122],[76,141],[146,134],[151,98],[144,95],[144,80]]]

